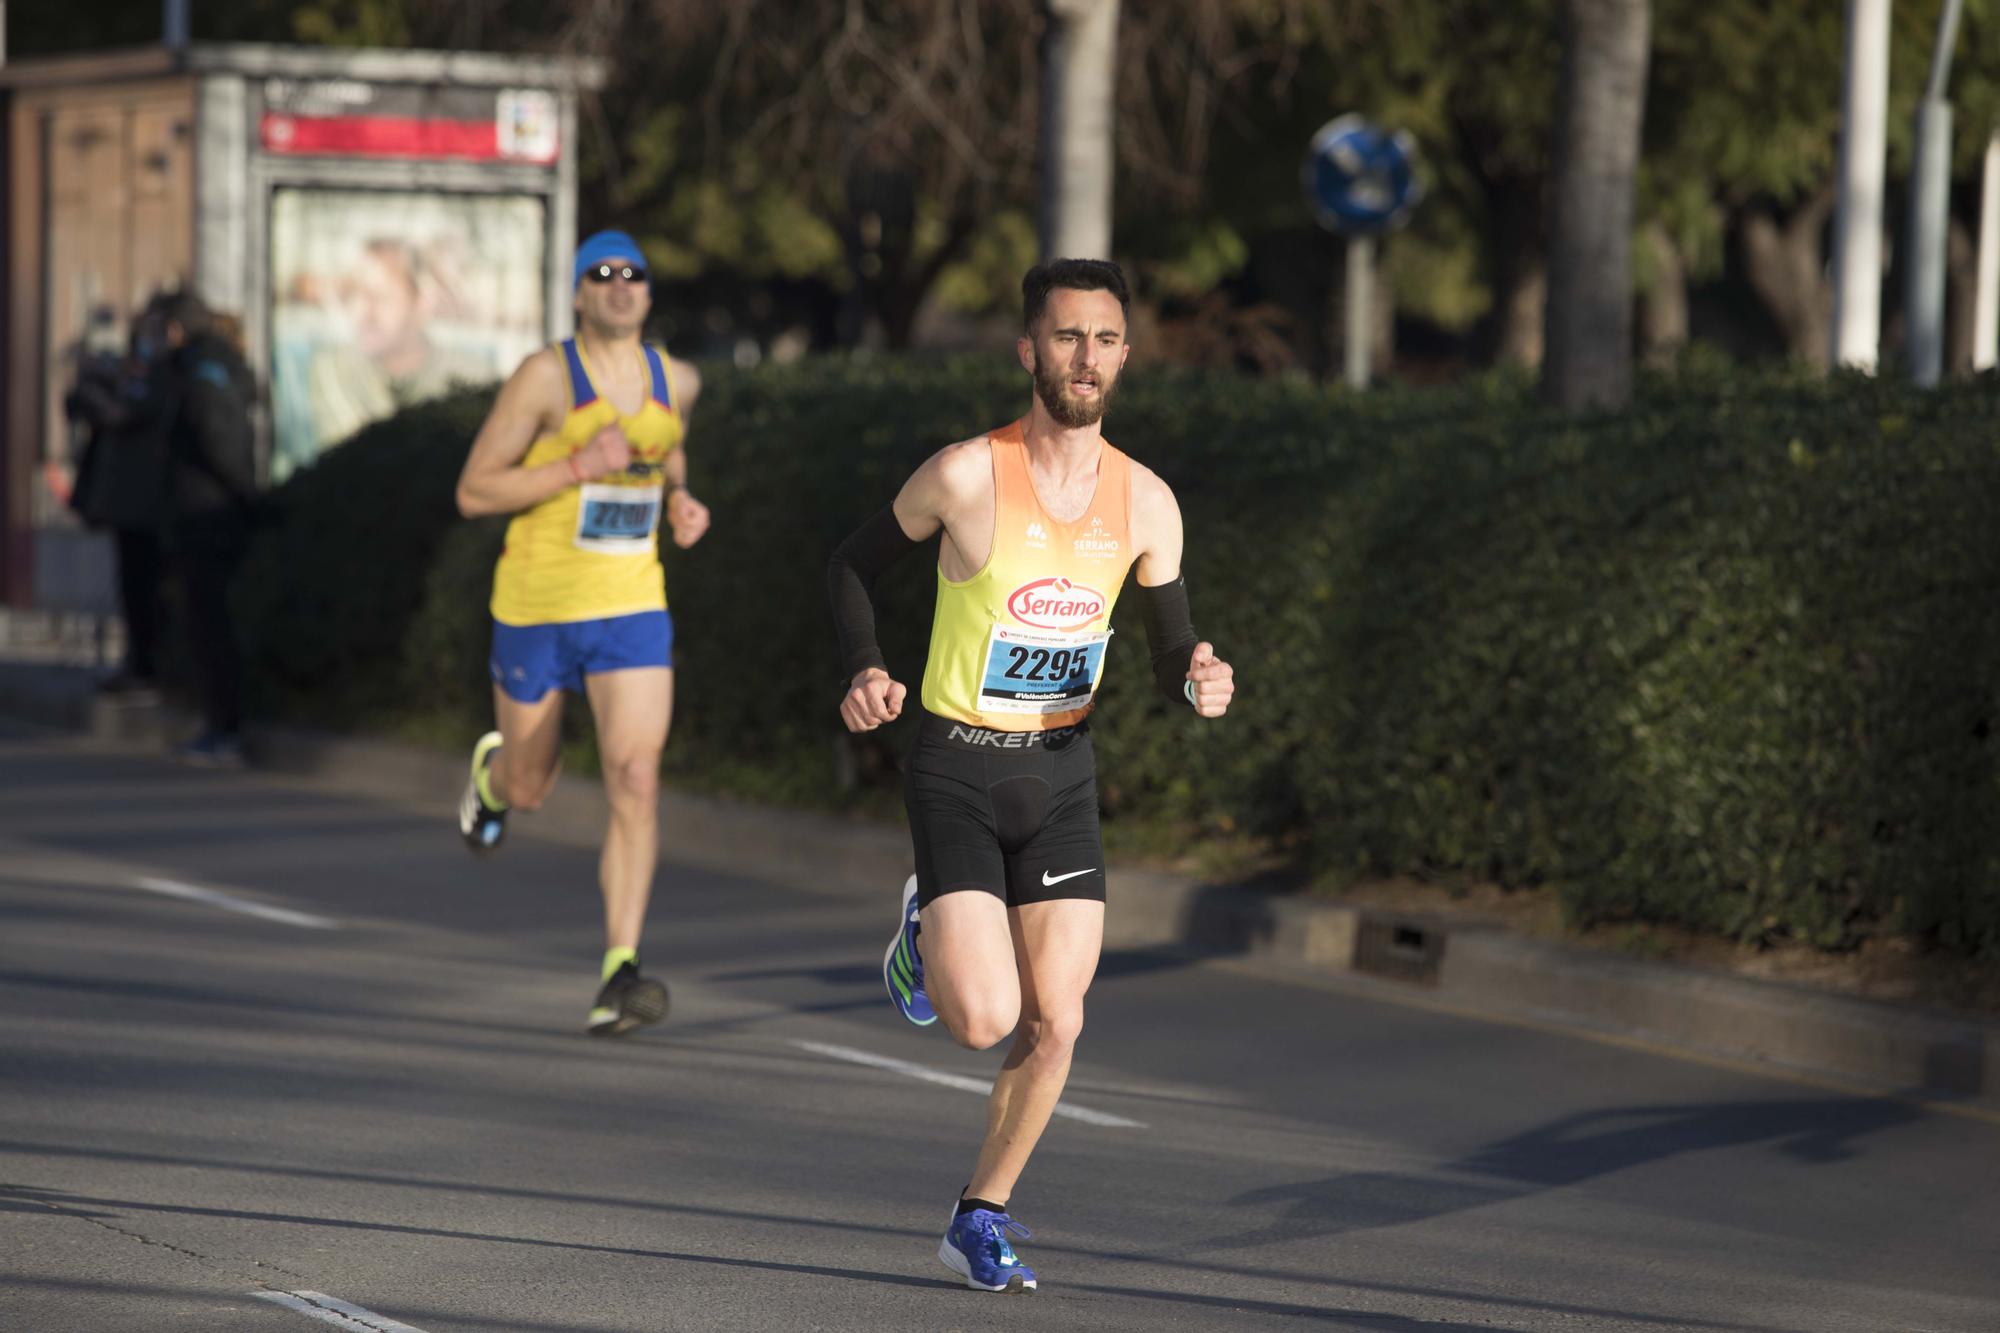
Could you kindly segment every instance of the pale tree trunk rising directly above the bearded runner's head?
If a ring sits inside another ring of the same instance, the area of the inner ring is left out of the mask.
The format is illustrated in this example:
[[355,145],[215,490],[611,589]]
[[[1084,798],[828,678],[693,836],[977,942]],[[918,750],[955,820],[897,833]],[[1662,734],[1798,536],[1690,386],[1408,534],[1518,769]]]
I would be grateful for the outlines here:
[[1042,258],[1112,254],[1118,0],[1046,0]]

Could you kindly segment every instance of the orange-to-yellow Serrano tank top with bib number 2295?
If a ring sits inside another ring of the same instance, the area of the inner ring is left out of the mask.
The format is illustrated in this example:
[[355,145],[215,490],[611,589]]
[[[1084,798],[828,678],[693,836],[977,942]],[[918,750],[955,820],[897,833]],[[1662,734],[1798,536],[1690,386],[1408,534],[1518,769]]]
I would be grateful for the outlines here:
[[986,438],[994,548],[964,582],[938,570],[924,709],[990,731],[1070,727],[1090,713],[1132,568],[1132,460],[1106,442],[1090,508],[1056,522],[1028,476],[1022,422]]

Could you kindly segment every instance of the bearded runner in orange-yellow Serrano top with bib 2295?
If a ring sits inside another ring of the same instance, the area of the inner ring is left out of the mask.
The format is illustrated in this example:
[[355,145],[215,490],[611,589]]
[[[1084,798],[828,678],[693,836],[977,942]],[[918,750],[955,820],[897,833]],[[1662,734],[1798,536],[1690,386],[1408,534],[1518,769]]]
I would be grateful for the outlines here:
[[1104,939],[1104,847],[1086,717],[1110,614],[1138,562],[1158,687],[1222,717],[1228,662],[1198,642],[1180,578],[1180,508],[1100,434],[1126,354],[1130,296],[1104,260],[1052,260],[1022,280],[1028,414],[952,444],[834,552],[828,580],[850,689],[848,731],[902,713],[874,636],[876,576],[938,544],[938,610],[904,801],[916,875],[882,975],[918,1027],[962,1045],[1008,1033],[986,1143],[938,1259],[980,1291],[1032,1291],[1008,1231],[1014,1181],[1048,1125],[1084,1027]]

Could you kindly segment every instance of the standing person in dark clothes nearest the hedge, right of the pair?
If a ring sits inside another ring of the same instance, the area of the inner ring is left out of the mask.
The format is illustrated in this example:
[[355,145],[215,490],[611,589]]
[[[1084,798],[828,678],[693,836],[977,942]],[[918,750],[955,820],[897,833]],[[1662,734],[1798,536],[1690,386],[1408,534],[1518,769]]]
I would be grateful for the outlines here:
[[154,296],[140,342],[154,366],[152,410],[166,422],[166,550],[186,592],[202,699],[202,733],[176,753],[194,765],[240,767],[244,669],[230,582],[258,504],[256,380],[192,292]]

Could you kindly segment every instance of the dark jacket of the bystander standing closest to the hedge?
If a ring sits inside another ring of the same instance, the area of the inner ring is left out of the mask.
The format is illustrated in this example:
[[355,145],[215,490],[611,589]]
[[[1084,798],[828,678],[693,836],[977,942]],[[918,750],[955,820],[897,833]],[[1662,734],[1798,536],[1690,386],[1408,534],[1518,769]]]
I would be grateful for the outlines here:
[[168,532],[182,542],[240,540],[258,504],[250,366],[224,338],[200,336],[160,372]]

